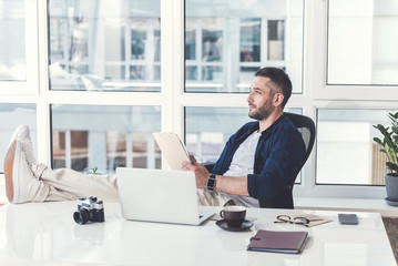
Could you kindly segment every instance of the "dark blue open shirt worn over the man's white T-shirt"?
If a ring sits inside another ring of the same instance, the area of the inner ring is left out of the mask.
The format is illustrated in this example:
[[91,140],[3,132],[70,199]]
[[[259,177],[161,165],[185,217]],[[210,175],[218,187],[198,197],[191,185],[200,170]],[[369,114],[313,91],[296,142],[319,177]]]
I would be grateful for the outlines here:
[[[258,129],[258,122],[249,122],[232,135],[212,173],[223,175],[228,170],[238,146]],[[254,198],[273,198],[286,186],[293,185],[302,168],[304,154],[302,134],[288,117],[282,115],[262,132],[258,140],[254,173],[247,175],[248,194]]]

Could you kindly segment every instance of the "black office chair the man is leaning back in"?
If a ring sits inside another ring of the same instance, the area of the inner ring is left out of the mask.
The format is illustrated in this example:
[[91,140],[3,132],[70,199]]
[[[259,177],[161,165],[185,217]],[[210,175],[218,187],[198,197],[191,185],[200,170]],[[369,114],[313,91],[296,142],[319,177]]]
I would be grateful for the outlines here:
[[[297,130],[302,133],[302,137],[304,140],[306,151],[304,155],[304,161],[300,166],[303,168],[304,164],[307,162],[310,152],[313,151],[314,142],[315,142],[315,123],[313,119],[295,113],[284,113],[297,127]],[[294,181],[295,182],[295,181]],[[288,185],[283,190],[279,195],[277,195],[272,201],[269,198],[258,198],[259,207],[268,207],[268,208],[294,208],[293,203],[293,184]]]

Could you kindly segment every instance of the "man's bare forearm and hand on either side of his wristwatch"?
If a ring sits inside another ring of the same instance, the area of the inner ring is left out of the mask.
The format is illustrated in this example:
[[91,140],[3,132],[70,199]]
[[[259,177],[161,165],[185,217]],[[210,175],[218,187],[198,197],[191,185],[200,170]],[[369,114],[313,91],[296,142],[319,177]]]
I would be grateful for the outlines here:
[[[191,163],[183,162],[183,170],[188,170],[195,173],[197,188],[207,187],[210,173],[202,164],[197,163],[193,156],[191,156]],[[248,196],[247,176],[232,177],[216,175],[214,190],[233,195]]]

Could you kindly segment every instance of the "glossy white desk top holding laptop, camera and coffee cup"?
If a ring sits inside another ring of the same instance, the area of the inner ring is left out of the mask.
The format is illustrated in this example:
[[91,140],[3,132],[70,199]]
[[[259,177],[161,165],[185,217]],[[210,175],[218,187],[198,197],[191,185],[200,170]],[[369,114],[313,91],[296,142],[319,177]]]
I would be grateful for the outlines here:
[[[280,209],[248,209],[258,217],[247,232],[125,221],[105,202],[105,223],[78,225],[75,202],[0,207],[0,265],[396,265],[377,213],[357,213],[358,226],[339,225],[337,212],[307,211],[335,221],[306,228],[274,224]],[[215,208],[218,209],[218,208]],[[247,252],[257,229],[308,231],[300,255]]]

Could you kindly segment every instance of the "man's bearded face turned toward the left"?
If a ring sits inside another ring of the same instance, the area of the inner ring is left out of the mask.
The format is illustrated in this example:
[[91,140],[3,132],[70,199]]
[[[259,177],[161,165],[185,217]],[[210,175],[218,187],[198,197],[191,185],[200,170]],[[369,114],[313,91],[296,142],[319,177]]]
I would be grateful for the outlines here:
[[247,96],[248,116],[255,120],[265,120],[275,110],[271,93],[268,78],[256,76],[251,85],[251,94]]

